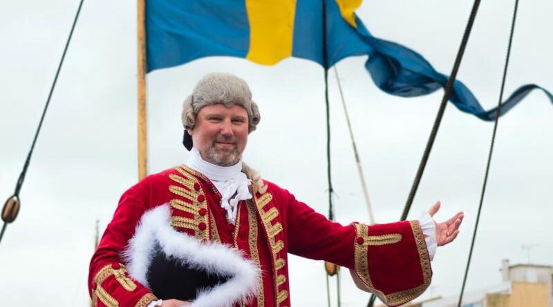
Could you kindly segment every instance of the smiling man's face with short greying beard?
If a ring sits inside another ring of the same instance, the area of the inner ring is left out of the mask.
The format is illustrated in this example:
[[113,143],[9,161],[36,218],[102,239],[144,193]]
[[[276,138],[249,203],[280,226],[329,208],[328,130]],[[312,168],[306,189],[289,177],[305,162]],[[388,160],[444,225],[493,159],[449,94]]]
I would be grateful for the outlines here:
[[248,127],[245,108],[238,105],[227,108],[217,103],[200,109],[196,126],[188,133],[205,161],[218,166],[233,166],[246,146]]

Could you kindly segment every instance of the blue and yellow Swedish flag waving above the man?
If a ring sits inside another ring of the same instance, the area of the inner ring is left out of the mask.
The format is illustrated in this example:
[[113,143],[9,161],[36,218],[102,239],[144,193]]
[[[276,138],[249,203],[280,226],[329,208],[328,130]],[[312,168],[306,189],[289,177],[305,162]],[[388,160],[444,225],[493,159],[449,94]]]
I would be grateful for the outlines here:
[[[366,69],[376,85],[391,95],[415,97],[444,87],[447,75],[437,72],[417,52],[373,37],[355,14],[361,2],[149,0],[147,70],[216,55],[242,57],[264,65],[298,57],[328,69],[346,57],[368,55]],[[529,84],[518,88],[503,103],[501,114],[536,88],[543,90],[553,103],[550,92]],[[480,119],[496,117],[495,108],[484,110],[460,81],[455,81],[450,101]]]

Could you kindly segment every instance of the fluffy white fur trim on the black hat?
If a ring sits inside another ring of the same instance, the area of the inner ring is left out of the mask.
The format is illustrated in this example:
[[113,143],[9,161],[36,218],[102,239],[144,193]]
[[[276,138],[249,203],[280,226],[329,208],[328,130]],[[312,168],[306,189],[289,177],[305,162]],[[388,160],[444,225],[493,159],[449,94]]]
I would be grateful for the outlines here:
[[207,273],[230,276],[230,279],[212,289],[198,293],[191,307],[225,307],[247,301],[257,295],[257,281],[261,271],[250,259],[232,246],[215,242],[199,242],[171,227],[169,205],[158,206],[142,215],[135,235],[124,250],[129,275],[148,287],[146,275],[156,245],[165,255],[203,268]]

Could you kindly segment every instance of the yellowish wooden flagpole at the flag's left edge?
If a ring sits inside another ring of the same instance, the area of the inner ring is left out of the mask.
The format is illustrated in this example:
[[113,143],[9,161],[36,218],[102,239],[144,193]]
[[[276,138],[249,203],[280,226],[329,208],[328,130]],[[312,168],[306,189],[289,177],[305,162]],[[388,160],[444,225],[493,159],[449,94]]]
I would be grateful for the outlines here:
[[148,172],[146,106],[146,0],[138,0],[138,179]]

